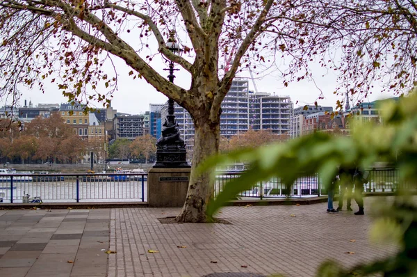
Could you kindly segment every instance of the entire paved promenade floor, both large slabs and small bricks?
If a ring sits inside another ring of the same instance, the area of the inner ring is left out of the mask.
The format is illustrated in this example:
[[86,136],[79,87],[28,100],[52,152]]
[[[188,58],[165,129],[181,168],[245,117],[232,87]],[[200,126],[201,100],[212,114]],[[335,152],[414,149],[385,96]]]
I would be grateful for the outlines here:
[[314,276],[329,258],[350,267],[398,250],[368,239],[375,200],[365,216],[327,203],[224,207],[231,224],[158,221],[178,208],[0,210],[0,276]]

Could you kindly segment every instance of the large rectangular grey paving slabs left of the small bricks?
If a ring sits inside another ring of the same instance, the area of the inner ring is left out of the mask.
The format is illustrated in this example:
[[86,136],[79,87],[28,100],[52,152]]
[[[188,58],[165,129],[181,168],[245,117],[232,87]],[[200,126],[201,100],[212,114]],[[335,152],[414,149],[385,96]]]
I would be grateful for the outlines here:
[[0,211],[0,276],[106,276],[109,209]]

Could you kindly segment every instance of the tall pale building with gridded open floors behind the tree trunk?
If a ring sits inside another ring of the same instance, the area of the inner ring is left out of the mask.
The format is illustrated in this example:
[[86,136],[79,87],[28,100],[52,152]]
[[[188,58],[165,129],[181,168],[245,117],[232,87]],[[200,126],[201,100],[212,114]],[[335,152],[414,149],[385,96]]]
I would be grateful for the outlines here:
[[[193,152],[194,124],[190,114],[175,104],[174,114],[187,145],[187,152]],[[289,96],[277,96],[270,93],[254,93],[249,90],[249,80],[236,77],[222,102],[220,116],[220,135],[230,138],[249,129],[270,129],[279,135],[290,134],[293,103]],[[161,111],[165,121],[167,104]]]

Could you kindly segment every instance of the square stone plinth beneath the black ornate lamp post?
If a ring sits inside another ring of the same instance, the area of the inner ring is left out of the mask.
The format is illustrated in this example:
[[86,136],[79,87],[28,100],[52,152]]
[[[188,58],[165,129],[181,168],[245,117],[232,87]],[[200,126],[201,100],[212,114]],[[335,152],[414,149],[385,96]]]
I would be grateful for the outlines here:
[[152,168],[147,179],[149,207],[182,207],[190,172],[191,168]]

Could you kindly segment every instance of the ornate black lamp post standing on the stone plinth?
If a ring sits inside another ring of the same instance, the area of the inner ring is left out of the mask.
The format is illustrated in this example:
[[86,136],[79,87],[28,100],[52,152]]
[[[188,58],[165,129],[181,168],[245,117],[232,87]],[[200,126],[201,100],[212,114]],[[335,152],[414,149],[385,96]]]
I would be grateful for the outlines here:
[[[170,33],[166,47],[170,49],[173,54],[181,54],[182,49],[174,38],[174,33]],[[179,69],[174,68],[172,61],[169,63],[168,70],[170,73],[168,79],[174,83],[174,71]],[[168,100],[168,114],[165,118],[162,128],[161,139],[156,142],[156,163],[154,168],[187,168],[190,167],[187,160],[186,143],[181,139],[179,133],[179,126],[174,116],[174,100]]]

